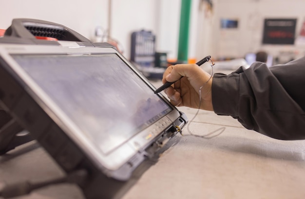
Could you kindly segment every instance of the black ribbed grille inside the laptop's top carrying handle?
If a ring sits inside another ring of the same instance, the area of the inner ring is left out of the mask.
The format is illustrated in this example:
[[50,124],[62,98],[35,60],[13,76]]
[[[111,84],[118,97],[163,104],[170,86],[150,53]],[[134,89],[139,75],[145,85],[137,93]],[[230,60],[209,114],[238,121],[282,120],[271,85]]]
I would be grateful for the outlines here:
[[37,26],[24,26],[28,31],[30,31],[36,37],[49,37],[55,38],[57,40],[64,40],[64,30],[49,27],[37,27]]

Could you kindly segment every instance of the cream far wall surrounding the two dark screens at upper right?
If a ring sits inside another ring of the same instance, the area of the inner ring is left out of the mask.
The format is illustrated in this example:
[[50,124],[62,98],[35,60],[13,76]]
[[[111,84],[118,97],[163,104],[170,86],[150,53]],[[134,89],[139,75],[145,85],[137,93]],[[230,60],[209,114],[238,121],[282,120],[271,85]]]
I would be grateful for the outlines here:
[[[263,45],[265,18],[296,18],[299,34],[305,20],[304,0],[216,0],[212,53],[217,57],[243,57],[248,52],[263,49],[274,56],[281,52],[305,54],[305,46]],[[237,30],[221,30],[220,19],[238,19]]]

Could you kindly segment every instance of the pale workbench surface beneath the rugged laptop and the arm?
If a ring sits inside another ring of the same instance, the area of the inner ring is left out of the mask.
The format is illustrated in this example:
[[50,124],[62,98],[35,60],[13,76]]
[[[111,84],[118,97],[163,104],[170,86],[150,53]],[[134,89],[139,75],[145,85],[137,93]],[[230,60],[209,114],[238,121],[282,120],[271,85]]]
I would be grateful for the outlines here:
[[[182,107],[189,119],[196,110]],[[305,141],[271,139],[237,120],[200,111],[190,130],[211,139],[177,135],[124,199],[304,199]],[[217,132],[214,134],[216,135]],[[62,176],[35,141],[0,157],[0,180],[43,180]],[[1,185],[0,185],[1,186]],[[83,199],[73,185],[57,185],[19,199]]]

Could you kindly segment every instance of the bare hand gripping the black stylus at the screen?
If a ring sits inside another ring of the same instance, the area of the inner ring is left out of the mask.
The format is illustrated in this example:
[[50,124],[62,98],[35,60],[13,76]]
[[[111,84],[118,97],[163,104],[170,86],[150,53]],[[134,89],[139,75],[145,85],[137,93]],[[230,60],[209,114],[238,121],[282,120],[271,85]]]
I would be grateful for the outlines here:
[[[183,77],[181,80],[179,80]],[[174,106],[199,108],[199,89],[201,88],[200,109],[213,111],[212,77],[196,64],[176,64],[169,66],[163,74],[162,82],[174,82],[164,90]]]

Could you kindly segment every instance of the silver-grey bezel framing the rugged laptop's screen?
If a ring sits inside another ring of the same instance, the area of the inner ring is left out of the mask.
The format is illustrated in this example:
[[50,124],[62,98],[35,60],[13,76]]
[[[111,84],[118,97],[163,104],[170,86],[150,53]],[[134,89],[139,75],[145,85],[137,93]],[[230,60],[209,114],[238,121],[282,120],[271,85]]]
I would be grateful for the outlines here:
[[[136,73],[151,89],[154,86],[143,77],[133,65],[112,47],[63,47],[43,45],[19,45],[5,44],[0,46],[0,55],[8,63],[15,76],[19,78],[26,92],[39,104],[39,106],[57,123],[57,125],[86,153],[96,165],[102,169],[117,170],[120,166],[132,158],[139,150],[147,147],[153,139],[161,134],[173,121],[180,117],[179,111],[161,94],[158,96],[165,101],[172,111],[163,118],[154,122],[112,153],[105,155],[99,153],[95,145],[87,139],[77,128],[74,122],[50,99],[48,95],[32,80],[29,75],[19,66],[11,55],[74,55],[74,54],[116,54]],[[164,125],[164,123],[166,125]],[[162,124],[162,125],[161,125]],[[160,128],[161,126],[161,128]],[[155,129],[157,132],[153,132]],[[152,133],[153,132],[153,133]],[[148,135],[150,135],[148,137]],[[143,141],[143,138],[148,138]]]

